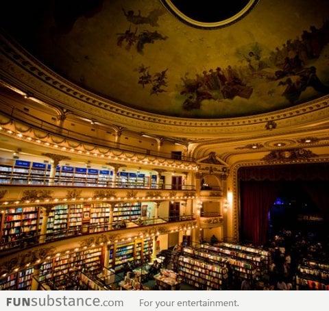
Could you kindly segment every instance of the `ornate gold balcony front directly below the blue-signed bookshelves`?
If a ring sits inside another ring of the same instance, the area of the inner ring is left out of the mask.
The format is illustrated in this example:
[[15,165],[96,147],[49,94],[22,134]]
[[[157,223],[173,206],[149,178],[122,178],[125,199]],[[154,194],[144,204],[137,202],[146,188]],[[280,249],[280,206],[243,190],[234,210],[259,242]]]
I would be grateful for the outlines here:
[[[122,186],[119,184],[118,186]],[[193,186],[182,187],[176,190],[171,185],[160,189],[150,188],[110,188],[92,186],[42,186],[14,184],[1,187],[0,209],[15,206],[47,206],[60,203],[100,201],[163,201],[172,199],[195,199]]]

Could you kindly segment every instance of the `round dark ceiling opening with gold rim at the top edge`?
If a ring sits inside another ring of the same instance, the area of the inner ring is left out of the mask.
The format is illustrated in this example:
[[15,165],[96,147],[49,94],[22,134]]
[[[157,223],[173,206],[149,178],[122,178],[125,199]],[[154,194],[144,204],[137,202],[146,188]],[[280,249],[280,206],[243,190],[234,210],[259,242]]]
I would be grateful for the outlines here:
[[197,28],[213,29],[236,23],[248,14],[259,0],[181,1],[160,0],[182,22]]

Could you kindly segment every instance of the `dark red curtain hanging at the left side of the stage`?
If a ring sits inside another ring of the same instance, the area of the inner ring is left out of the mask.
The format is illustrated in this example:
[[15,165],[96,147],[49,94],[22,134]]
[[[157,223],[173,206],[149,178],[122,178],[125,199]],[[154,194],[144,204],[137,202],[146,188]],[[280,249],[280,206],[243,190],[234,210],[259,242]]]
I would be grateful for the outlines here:
[[267,214],[280,187],[278,182],[241,182],[241,237],[253,245],[263,245],[267,238]]

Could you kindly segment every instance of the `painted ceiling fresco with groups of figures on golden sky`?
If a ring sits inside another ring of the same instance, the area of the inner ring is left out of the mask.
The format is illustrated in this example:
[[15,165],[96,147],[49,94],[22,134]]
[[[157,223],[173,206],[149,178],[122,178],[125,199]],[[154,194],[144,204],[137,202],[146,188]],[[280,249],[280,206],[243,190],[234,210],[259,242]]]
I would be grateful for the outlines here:
[[241,1],[247,14],[208,29],[168,1],[26,2],[4,4],[5,32],[58,75],[137,110],[223,119],[329,93],[328,0]]

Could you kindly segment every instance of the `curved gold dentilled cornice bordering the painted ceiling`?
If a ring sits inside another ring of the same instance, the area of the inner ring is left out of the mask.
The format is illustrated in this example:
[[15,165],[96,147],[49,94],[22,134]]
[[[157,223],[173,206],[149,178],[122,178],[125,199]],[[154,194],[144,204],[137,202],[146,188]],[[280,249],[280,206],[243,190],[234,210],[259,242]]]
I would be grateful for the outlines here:
[[153,132],[167,132],[168,135],[180,133],[193,137],[195,137],[195,133],[199,133],[199,136],[202,137],[228,133],[260,132],[269,124],[275,123],[278,128],[282,129],[291,126],[292,123],[302,123],[302,121],[305,123],[307,119],[314,119],[317,112],[328,107],[329,96],[326,96],[259,116],[202,120],[160,116],[126,108],[120,103],[114,103],[72,84],[50,71],[32,55],[15,46],[3,34],[0,37],[0,49],[2,51],[0,72],[5,83],[16,84],[14,87],[18,89],[25,87],[27,88],[24,90],[25,92],[32,89],[42,90],[40,97],[47,97],[48,101],[63,103],[62,105],[65,103],[65,108],[68,110],[73,112],[92,110],[99,119],[111,121],[111,123],[115,120],[119,125],[126,125],[127,128],[136,131],[143,128]]

